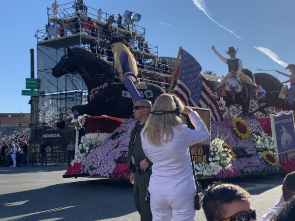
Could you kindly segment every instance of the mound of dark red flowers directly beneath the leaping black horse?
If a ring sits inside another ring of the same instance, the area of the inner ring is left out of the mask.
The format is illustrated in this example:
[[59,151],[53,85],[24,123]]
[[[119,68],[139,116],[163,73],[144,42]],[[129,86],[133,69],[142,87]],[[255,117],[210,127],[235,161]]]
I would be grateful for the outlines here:
[[109,116],[93,116],[87,119],[86,134],[92,133],[113,133],[124,121],[116,118],[116,117],[109,117]]

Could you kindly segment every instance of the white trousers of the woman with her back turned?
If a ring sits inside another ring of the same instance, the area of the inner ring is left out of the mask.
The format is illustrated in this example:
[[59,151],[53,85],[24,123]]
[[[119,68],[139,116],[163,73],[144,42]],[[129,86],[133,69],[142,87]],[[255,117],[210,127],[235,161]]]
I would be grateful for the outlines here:
[[150,194],[153,221],[194,221],[194,193],[186,195]]

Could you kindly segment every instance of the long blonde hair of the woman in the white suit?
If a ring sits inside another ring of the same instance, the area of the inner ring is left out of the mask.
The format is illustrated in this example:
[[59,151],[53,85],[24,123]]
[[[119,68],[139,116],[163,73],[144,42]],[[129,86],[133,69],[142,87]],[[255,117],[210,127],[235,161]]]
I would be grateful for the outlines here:
[[[174,111],[176,103],[183,110],[181,101],[171,94],[161,94],[155,101],[151,111]],[[176,113],[161,115],[149,115],[144,127],[144,137],[154,146],[162,146],[162,142],[168,142],[173,138],[173,127],[183,124]]]

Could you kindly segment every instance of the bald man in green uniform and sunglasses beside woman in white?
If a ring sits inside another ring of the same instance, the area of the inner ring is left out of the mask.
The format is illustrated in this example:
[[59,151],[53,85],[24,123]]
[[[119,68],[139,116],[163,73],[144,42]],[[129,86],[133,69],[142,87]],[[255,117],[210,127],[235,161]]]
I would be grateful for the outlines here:
[[128,165],[131,170],[130,182],[133,186],[133,196],[137,211],[140,214],[141,221],[151,221],[152,215],[149,202],[145,198],[145,185],[148,186],[151,175],[152,163],[146,157],[140,138],[145,122],[151,111],[151,103],[148,100],[139,100],[133,108],[136,122],[129,142]]

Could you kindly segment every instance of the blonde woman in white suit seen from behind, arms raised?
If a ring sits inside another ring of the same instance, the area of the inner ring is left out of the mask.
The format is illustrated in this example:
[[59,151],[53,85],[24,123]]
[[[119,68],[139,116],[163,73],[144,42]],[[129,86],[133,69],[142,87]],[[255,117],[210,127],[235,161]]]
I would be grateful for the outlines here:
[[[196,130],[182,123],[187,114]],[[171,94],[155,101],[144,130],[142,147],[153,163],[149,181],[153,221],[194,221],[195,182],[189,146],[209,137],[198,113],[181,104]]]

